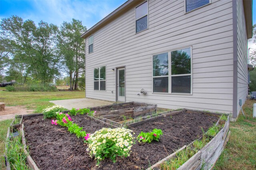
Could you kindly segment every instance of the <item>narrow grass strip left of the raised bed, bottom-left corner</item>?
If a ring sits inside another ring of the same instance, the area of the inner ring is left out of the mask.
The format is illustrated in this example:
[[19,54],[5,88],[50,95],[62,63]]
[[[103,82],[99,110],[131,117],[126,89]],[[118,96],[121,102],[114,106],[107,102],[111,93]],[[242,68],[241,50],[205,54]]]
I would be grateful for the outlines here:
[[6,135],[7,135],[7,129],[12,123],[12,119],[0,121],[0,169],[5,168],[5,161],[4,161],[4,145],[5,145],[5,140],[6,140]]

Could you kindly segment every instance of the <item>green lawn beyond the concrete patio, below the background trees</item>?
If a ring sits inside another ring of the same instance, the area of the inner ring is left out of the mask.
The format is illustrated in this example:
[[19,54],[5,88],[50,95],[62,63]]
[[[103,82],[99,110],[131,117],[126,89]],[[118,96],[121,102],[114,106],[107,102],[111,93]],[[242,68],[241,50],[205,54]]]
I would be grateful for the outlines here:
[[54,106],[50,100],[64,100],[84,98],[84,91],[73,92],[7,92],[0,91],[0,100],[6,106],[26,106],[34,109],[34,113],[41,113],[42,109]]

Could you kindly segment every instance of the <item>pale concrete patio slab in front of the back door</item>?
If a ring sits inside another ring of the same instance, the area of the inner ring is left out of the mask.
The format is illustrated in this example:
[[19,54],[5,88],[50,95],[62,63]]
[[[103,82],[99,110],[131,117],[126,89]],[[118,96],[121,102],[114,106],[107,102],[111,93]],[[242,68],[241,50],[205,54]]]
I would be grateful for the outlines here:
[[86,107],[96,107],[96,106],[104,106],[110,105],[114,102],[106,101],[106,100],[97,100],[90,98],[82,98],[82,99],[68,99],[68,100],[52,100],[49,101],[54,104],[58,104],[63,106],[66,109],[72,109],[73,107],[76,109],[82,109]]

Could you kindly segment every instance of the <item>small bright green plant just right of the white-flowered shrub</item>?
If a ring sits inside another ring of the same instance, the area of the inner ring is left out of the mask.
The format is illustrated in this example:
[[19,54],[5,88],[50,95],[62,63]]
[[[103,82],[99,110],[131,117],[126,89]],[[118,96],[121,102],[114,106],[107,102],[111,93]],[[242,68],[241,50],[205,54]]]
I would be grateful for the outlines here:
[[159,141],[161,135],[163,135],[161,129],[153,129],[152,132],[147,132],[147,133],[140,132],[137,139],[138,139],[138,142],[140,142],[140,143],[141,142],[142,143],[151,143],[153,140]]

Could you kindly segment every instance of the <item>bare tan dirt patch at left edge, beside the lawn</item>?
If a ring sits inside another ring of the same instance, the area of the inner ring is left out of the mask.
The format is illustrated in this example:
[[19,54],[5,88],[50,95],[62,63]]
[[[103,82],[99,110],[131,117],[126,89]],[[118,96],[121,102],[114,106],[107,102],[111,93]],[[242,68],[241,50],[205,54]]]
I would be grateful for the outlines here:
[[0,111],[0,121],[13,119],[15,115],[24,115],[33,113],[34,110],[26,109],[25,106],[5,106],[3,111]]

